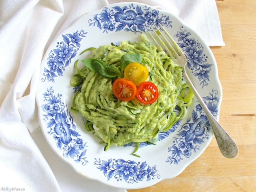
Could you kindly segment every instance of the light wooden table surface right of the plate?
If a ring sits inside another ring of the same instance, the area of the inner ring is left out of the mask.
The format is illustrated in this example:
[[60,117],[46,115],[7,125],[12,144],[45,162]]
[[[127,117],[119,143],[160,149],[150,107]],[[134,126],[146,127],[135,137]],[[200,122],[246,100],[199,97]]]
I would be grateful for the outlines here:
[[225,46],[211,47],[223,89],[219,122],[236,141],[234,159],[215,138],[177,177],[128,192],[256,191],[256,0],[217,0]]

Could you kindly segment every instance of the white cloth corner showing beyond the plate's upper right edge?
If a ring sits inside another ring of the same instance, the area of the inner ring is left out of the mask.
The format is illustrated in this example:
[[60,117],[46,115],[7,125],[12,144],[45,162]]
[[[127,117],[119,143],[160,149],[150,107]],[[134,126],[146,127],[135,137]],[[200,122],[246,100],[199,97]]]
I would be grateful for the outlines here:
[[[126,0],[108,0],[109,3]],[[196,31],[208,46],[224,46],[215,0],[134,0],[163,9],[178,16]]]

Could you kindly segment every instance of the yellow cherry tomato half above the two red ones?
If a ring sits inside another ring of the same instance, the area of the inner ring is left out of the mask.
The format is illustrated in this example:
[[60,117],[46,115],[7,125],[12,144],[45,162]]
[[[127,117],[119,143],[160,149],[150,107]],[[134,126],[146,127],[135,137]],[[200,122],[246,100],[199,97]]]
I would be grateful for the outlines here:
[[138,86],[148,78],[148,70],[139,63],[129,63],[124,69],[124,78],[129,79]]

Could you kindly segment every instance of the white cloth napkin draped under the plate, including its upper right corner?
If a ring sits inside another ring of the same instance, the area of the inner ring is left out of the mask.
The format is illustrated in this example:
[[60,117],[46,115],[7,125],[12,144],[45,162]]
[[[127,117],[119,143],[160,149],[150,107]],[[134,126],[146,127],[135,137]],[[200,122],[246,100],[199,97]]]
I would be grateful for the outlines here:
[[[0,1],[0,189],[125,191],[80,177],[48,146],[35,94],[43,55],[80,15],[116,0]],[[171,11],[209,46],[223,46],[215,0],[134,0]],[[35,131],[39,129],[39,131]]]

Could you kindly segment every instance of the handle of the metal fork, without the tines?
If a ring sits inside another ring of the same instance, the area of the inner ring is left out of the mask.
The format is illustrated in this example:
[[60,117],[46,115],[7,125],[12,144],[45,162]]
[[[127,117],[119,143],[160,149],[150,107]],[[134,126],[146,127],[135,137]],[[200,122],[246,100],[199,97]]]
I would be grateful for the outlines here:
[[183,76],[186,79],[187,83],[190,85],[191,89],[193,90],[194,95],[196,96],[198,102],[200,102],[202,108],[204,109],[204,113],[206,114],[213,133],[215,135],[217,144],[221,153],[224,157],[227,158],[234,158],[237,155],[238,148],[234,140],[228,135],[228,133],[224,130],[224,128],[219,124],[219,122],[214,118],[211,114],[210,110],[208,109],[207,105],[202,100],[201,96],[198,94],[197,89],[187,76],[186,70],[184,69]]

